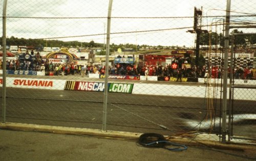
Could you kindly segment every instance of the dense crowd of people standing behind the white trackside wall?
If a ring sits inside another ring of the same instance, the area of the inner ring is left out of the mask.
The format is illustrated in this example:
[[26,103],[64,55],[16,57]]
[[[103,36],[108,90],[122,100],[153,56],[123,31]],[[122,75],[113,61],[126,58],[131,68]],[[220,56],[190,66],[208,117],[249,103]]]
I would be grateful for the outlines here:
[[[47,63],[44,62],[39,52],[34,55],[33,50],[30,55],[32,59],[7,60],[7,70],[29,70],[29,71],[44,71],[46,75],[88,75],[89,73],[105,74],[105,67],[101,64],[92,65],[76,65],[74,63]],[[25,55],[24,55],[25,57]],[[135,65],[117,63],[109,67],[109,74],[113,75],[147,75],[147,76],[169,76],[169,77],[205,77],[209,75],[211,78],[221,78],[223,68],[221,66],[190,66],[186,59],[174,60],[177,63],[177,68],[173,68],[172,64],[167,65]],[[173,62],[173,63],[174,63]],[[2,61],[0,61],[2,69]],[[233,76],[236,79],[256,79],[256,69],[251,64],[247,66],[235,67]],[[228,77],[230,77],[230,68],[228,69]]]

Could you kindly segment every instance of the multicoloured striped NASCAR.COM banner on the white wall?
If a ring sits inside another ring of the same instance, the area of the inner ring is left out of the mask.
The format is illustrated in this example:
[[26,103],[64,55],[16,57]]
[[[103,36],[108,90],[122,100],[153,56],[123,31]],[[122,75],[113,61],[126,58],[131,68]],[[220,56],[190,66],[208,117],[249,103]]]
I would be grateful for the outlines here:
[[[104,87],[105,83],[102,82],[67,81],[64,90],[103,92]],[[108,91],[117,93],[132,93],[133,84],[109,83]]]

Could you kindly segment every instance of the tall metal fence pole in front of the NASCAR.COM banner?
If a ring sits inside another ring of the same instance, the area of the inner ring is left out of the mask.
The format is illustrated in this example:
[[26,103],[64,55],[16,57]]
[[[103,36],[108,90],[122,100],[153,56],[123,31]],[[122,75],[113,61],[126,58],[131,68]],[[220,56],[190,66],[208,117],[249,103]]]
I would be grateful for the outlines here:
[[104,100],[103,100],[103,121],[102,121],[102,131],[106,131],[106,110],[108,107],[108,77],[109,77],[109,55],[110,55],[110,27],[111,27],[111,10],[112,2],[109,1],[109,11],[108,11],[108,24],[106,26],[106,61],[105,61],[105,85],[104,85]]

